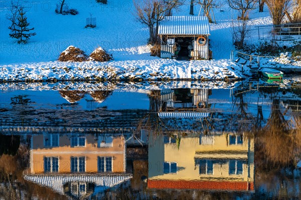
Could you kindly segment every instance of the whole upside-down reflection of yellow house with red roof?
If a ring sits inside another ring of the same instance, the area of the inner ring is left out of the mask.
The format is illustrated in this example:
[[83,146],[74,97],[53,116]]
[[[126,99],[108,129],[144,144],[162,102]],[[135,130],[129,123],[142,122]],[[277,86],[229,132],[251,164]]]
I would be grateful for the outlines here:
[[183,137],[179,150],[175,142],[150,145],[149,188],[254,189],[253,139],[231,133]]

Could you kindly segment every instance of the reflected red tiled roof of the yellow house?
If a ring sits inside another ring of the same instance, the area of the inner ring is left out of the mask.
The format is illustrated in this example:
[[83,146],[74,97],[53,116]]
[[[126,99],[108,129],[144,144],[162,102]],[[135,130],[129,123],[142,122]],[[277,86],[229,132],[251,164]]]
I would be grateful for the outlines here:
[[148,188],[157,189],[204,189],[204,190],[254,190],[254,182],[211,180],[160,180],[148,179]]

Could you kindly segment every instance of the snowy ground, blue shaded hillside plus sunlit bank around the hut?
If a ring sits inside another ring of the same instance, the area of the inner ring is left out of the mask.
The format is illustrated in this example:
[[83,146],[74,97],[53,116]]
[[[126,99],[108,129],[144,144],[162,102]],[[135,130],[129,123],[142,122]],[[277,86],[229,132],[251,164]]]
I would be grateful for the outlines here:
[[[134,16],[133,1],[108,0],[107,5],[95,0],[67,0],[78,15],[55,14],[57,1],[26,1],[28,21],[35,27],[35,36],[27,44],[18,44],[9,37],[6,18],[10,1],[0,0],[0,80],[46,79],[228,79],[244,75],[230,58],[231,24],[237,12],[225,0],[214,8],[217,24],[211,24],[213,60],[178,61],[149,55],[148,29]],[[189,15],[187,2],[174,15]],[[198,14],[199,6],[194,7]],[[222,10],[222,11],[221,11]],[[96,17],[96,28],[84,28],[86,18]],[[267,8],[249,14],[250,25],[271,24]],[[254,34],[250,40],[257,39]],[[74,45],[87,54],[101,46],[113,54],[109,62],[58,62],[59,54]],[[276,61],[277,62],[277,61]],[[281,63],[280,63],[281,64]],[[296,64],[298,65],[298,63]],[[301,65],[301,64],[300,64]],[[245,69],[248,73],[248,70]]]

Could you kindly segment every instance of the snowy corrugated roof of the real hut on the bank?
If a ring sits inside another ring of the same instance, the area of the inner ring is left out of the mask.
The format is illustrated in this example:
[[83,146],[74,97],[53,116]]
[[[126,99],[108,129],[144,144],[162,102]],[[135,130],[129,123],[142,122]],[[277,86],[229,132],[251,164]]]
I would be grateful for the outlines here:
[[207,16],[166,16],[159,25],[158,34],[210,35]]

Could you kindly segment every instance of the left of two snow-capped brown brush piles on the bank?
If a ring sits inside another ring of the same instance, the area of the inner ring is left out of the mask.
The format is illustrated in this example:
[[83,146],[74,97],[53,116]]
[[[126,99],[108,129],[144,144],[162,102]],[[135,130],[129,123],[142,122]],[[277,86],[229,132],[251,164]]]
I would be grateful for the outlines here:
[[85,52],[75,46],[68,46],[66,50],[64,50],[60,56],[59,61],[76,61],[82,62],[87,59],[87,55]]

